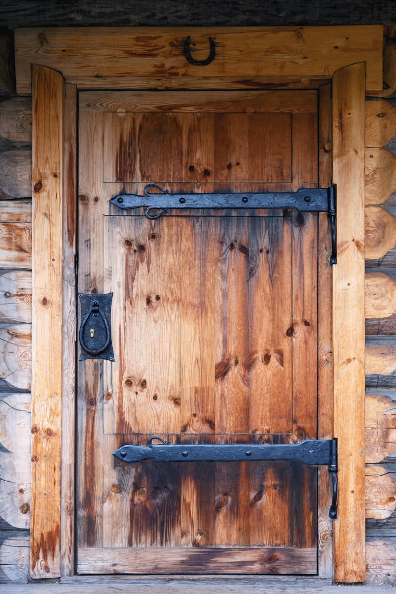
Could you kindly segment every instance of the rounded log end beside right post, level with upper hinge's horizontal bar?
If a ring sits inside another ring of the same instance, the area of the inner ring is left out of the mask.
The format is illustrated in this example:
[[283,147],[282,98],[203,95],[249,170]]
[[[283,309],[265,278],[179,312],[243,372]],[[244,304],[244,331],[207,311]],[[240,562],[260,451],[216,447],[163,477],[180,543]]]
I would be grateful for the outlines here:
[[396,156],[385,149],[365,150],[365,204],[383,204],[396,188]]

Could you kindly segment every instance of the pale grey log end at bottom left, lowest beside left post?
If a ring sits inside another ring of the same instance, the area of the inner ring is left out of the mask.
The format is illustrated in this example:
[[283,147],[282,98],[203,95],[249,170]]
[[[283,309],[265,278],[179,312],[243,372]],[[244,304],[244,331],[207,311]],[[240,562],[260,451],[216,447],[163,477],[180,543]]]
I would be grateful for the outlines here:
[[[27,533],[12,533],[0,546],[0,568],[11,582],[27,582],[30,538]],[[15,586],[13,586],[15,587]]]

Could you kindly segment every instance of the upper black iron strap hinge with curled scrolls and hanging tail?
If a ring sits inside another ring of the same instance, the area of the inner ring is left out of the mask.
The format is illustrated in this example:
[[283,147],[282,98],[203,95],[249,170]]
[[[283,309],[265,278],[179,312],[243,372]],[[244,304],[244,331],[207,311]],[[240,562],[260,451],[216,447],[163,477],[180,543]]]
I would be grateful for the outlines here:
[[[149,192],[156,188],[161,193]],[[144,196],[117,194],[110,203],[118,208],[145,208],[148,219],[158,219],[171,208],[297,208],[303,212],[327,212],[330,217],[331,257],[330,266],[337,263],[335,237],[336,187],[299,189],[297,192],[233,192],[229,194],[170,194],[157,184],[147,184]],[[150,214],[156,208],[159,213]]]

